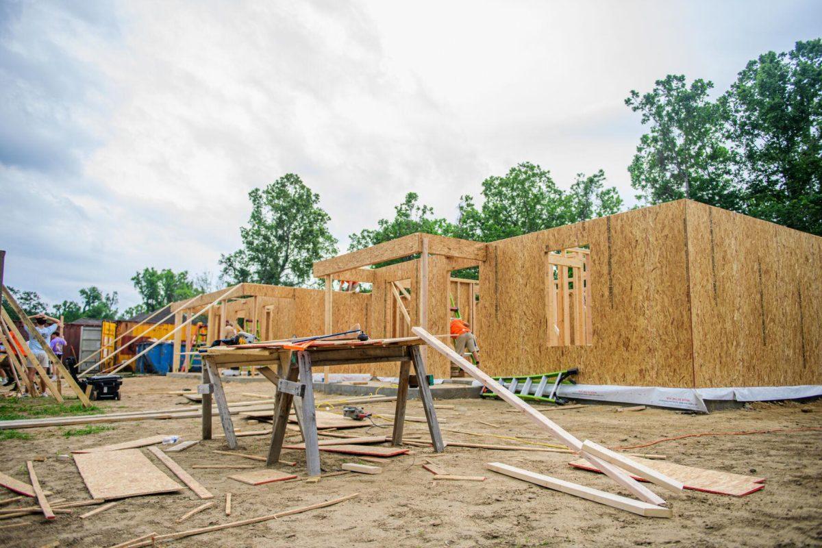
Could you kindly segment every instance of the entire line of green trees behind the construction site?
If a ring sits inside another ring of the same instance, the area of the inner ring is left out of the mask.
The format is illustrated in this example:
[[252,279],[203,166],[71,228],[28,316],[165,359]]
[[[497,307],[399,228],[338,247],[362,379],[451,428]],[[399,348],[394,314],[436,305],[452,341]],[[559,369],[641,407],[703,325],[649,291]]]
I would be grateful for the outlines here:
[[[667,75],[653,89],[631,90],[625,104],[647,131],[628,166],[640,205],[690,198],[822,236],[822,39],[797,42],[746,64],[712,99],[713,82]],[[392,219],[350,235],[349,251],[412,233],[493,242],[586,219],[624,207],[602,169],[578,173],[568,191],[551,173],[522,162],[482,182],[480,200],[459,197],[454,221],[409,192]],[[242,247],[220,256],[223,283],[321,284],[312,264],[338,253],[320,196],[294,173],[249,193],[252,212],[240,228]],[[471,273],[466,273],[471,275]],[[206,292],[206,274],[146,268],[132,277],[140,305],[128,317]],[[44,311],[35,292],[16,292],[24,310]],[[78,301],[54,306],[69,317],[118,317],[117,292],[81,289]],[[34,312],[32,312],[34,313]]]

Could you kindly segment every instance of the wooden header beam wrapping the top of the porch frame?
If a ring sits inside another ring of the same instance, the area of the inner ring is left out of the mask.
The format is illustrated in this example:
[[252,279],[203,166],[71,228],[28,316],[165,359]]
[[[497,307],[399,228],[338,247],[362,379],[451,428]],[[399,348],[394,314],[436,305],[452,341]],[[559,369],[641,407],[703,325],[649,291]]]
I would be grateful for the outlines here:
[[[470,242],[469,240],[436,236],[435,234],[415,233],[331,259],[319,260],[314,263],[314,276],[322,278],[330,274],[338,274],[346,270],[358,269],[363,266],[376,265],[376,263],[382,263],[386,260],[418,254],[423,249],[423,238],[428,241],[429,255],[443,255],[478,261],[486,260],[486,244],[482,242]],[[336,275],[334,277],[337,278]]]

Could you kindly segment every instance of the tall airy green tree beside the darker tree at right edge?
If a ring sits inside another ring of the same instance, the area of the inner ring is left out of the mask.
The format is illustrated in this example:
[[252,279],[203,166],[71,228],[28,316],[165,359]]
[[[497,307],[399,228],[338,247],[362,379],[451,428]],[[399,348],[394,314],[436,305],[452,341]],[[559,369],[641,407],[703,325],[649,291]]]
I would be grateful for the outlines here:
[[653,90],[631,90],[625,103],[642,115],[649,133],[630,163],[631,187],[649,204],[680,198],[739,210],[741,189],[733,181],[732,154],[725,145],[722,105],[709,99],[713,83],[668,75]]

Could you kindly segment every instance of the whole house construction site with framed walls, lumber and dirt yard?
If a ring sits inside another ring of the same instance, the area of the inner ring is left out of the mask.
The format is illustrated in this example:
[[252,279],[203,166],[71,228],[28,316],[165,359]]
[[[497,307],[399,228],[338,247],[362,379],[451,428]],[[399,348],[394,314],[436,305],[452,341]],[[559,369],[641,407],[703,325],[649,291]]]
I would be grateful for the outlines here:
[[822,237],[675,200],[312,274],[71,362],[3,286],[0,546],[822,545]]

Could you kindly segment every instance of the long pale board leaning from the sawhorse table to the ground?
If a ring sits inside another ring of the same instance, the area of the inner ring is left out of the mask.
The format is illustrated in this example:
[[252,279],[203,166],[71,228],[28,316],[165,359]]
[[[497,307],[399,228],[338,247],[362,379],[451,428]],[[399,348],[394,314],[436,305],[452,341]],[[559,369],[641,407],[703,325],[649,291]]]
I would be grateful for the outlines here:
[[[543,413],[538,412],[528,403],[525,403],[515,394],[512,394],[499,382],[488,376],[487,373],[471,364],[464,357],[459,356],[453,348],[450,348],[446,344],[442,343],[441,340],[428,333],[422,327],[413,327],[411,330],[413,331],[413,334],[416,334],[419,338],[422,338],[428,346],[434,348],[436,352],[440,352],[446,356],[450,361],[459,366],[460,369],[471,375],[474,379],[478,380],[487,389],[492,390],[494,394],[499,396],[506,403],[524,412],[526,417],[529,417],[529,419],[534,421],[540,428],[550,432],[557,440],[560,440],[562,444],[565,444],[568,449],[574,449],[575,451],[580,451],[582,449],[582,441],[575,435],[572,435],[569,431],[566,431],[564,428],[556,424],[556,422],[545,417]],[[589,461],[589,463],[592,463],[594,466],[598,467],[613,481],[616,481],[619,485],[625,487],[627,490],[630,490],[631,493],[638,496],[640,499],[654,505],[665,504],[665,500],[663,500],[659,495],[643,486],[640,482],[635,481],[628,474],[626,474],[626,472],[623,472],[617,465],[607,463],[590,454],[583,454],[583,456]],[[623,455],[619,455],[618,458],[621,462],[630,461],[630,458]]]

